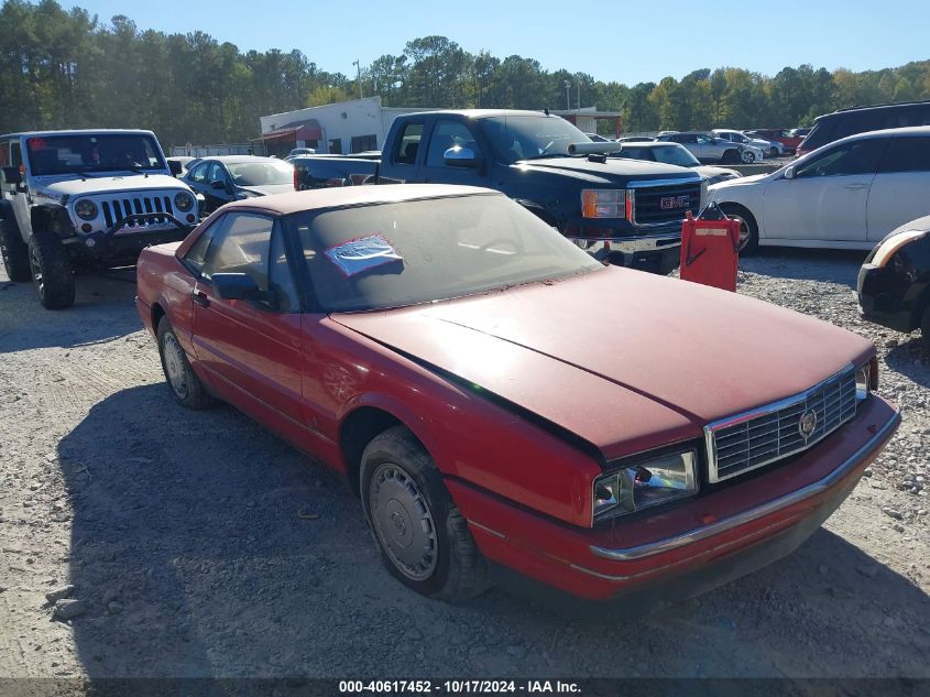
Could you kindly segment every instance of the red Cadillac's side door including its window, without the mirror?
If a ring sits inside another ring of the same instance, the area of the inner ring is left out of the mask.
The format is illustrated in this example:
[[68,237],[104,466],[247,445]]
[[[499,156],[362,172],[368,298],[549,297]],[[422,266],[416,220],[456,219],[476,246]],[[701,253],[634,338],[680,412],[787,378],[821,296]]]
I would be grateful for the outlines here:
[[[195,353],[231,401],[298,421],[303,413],[300,303],[281,226],[271,217],[247,211],[229,213],[220,224],[194,287]],[[210,281],[217,273],[245,273],[276,300],[220,298]]]

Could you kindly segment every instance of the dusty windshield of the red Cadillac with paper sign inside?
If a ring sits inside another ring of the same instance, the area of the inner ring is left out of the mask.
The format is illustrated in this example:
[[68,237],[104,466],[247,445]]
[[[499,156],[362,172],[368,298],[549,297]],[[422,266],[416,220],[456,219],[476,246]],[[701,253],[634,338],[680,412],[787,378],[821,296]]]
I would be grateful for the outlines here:
[[285,226],[326,312],[429,303],[603,268],[500,195],[309,210]]

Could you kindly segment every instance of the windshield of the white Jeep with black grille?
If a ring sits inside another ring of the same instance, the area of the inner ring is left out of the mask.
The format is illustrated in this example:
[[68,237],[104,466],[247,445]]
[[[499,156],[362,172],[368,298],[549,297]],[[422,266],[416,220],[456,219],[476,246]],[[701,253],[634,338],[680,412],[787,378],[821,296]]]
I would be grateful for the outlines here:
[[144,133],[34,135],[26,152],[33,175],[167,168],[155,139]]

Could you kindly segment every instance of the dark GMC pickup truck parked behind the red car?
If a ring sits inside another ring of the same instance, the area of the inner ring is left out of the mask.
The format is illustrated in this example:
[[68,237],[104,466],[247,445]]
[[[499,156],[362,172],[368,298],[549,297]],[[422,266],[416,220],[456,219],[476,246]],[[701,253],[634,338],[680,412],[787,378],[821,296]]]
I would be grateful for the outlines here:
[[380,162],[295,157],[298,188],[438,183],[483,186],[517,200],[599,259],[668,273],[681,220],[707,197],[693,171],[608,157],[565,119],[539,111],[474,109],[397,117]]

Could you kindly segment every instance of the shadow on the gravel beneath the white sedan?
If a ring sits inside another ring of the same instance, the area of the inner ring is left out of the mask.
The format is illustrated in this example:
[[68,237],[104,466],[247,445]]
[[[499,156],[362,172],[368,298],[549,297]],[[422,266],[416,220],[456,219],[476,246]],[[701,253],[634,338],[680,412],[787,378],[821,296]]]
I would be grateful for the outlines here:
[[868,252],[841,249],[763,248],[740,258],[740,270],[778,279],[824,281],[855,290]]

